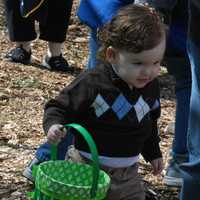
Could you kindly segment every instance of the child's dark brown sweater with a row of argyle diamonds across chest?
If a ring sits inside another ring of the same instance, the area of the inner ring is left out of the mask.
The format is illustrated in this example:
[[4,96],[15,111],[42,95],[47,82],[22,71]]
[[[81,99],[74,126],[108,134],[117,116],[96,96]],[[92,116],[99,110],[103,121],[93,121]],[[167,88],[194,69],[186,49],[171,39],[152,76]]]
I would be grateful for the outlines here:
[[[82,72],[45,106],[44,130],[53,124],[78,123],[92,135],[101,156],[146,161],[161,157],[157,119],[159,85],[155,79],[142,89],[130,89],[109,64]],[[75,132],[72,130],[72,132]],[[90,152],[79,134],[77,149]]]

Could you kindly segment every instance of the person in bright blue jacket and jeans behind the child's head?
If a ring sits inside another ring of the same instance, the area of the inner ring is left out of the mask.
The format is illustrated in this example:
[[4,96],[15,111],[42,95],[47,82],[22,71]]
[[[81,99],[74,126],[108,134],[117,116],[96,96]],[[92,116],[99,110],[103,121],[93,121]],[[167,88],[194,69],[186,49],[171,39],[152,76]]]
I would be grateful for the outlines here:
[[96,56],[100,47],[97,40],[98,28],[106,24],[120,8],[131,3],[134,3],[134,0],[81,0],[77,15],[81,22],[85,23],[90,28],[87,69],[95,67],[100,62]]

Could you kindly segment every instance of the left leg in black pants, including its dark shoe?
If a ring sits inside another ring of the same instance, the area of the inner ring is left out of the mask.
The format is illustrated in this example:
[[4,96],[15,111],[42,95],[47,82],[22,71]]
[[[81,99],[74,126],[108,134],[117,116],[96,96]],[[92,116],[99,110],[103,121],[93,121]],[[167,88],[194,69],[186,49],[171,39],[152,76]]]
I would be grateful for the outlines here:
[[20,1],[5,0],[5,13],[9,39],[16,47],[6,57],[14,62],[27,64],[31,59],[30,43],[37,37],[34,21],[20,14]]

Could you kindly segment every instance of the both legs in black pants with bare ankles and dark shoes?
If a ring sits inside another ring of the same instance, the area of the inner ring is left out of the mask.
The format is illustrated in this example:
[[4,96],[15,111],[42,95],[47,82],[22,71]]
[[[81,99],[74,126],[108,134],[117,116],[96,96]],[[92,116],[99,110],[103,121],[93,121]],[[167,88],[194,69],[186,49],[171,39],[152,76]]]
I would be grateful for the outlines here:
[[[29,64],[31,62],[31,42],[37,38],[35,20],[24,18],[20,12],[20,1],[4,0],[9,39],[15,47],[6,55],[13,62]],[[53,71],[69,71],[67,60],[62,55],[62,45],[71,15],[72,0],[48,0],[40,22],[39,38],[48,42],[47,55],[43,66]]]

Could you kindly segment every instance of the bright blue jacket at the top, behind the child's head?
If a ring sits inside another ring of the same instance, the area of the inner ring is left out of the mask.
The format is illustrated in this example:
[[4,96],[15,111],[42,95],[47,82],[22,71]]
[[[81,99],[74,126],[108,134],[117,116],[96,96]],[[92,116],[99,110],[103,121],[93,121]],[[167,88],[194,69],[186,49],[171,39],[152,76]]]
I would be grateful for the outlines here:
[[77,15],[92,29],[108,22],[117,10],[134,0],[81,0]]

